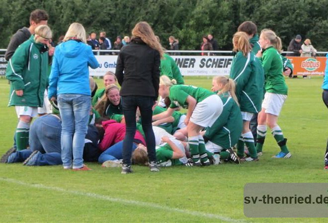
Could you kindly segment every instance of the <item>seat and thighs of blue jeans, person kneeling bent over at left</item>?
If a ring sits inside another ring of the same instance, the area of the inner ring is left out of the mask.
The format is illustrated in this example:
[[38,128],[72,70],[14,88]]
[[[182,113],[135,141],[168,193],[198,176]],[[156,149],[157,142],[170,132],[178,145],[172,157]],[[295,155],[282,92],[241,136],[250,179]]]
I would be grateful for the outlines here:
[[61,153],[62,122],[54,115],[43,115],[32,123],[29,145],[32,151]]

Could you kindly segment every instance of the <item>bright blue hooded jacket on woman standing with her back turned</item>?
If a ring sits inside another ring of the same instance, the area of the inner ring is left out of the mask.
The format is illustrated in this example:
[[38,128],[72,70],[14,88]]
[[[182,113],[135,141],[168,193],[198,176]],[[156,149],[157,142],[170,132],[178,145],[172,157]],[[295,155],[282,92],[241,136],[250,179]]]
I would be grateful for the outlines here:
[[91,95],[88,67],[99,67],[90,46],[76,40],[58,45],[49,76],[49,99],[59,94]]

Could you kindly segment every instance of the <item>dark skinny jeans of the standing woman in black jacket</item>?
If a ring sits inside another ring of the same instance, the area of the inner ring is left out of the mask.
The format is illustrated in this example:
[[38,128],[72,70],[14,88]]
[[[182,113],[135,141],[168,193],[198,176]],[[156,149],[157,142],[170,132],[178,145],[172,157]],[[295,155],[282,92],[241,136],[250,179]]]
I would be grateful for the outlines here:
[[136,133],[136,110],[141,113],[141,125],[145,133],[149,161],[156,161],[155,136],[152,126],[154,97],[122,96],[122,108],[126,133],[123,142],[123,163],[131,165],[132,143]]

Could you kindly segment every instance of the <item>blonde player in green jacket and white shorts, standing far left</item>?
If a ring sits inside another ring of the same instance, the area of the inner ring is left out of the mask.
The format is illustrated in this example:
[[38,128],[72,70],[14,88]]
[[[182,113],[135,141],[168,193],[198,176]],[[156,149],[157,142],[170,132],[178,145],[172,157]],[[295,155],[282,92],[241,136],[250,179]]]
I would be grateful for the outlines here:
[[27,148],[31,120],[37,116],[37,108],[43,106],[48,78],[47,44],[51,38],[47,25],[38,26],[35,35],[22,43],[8,62],[8,106],[15,106],[19,118],[15,136],[17,150]]

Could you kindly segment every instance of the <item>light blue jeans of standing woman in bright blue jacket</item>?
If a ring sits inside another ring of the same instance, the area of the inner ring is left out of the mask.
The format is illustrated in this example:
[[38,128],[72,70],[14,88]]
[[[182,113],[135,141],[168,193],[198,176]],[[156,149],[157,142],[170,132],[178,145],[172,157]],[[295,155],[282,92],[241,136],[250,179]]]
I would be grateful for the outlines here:
[[89,121],[91,97],[83,94],[59,94],[57,96],[62,118],[62,161],[65,168],[83,167],[83,147]]

